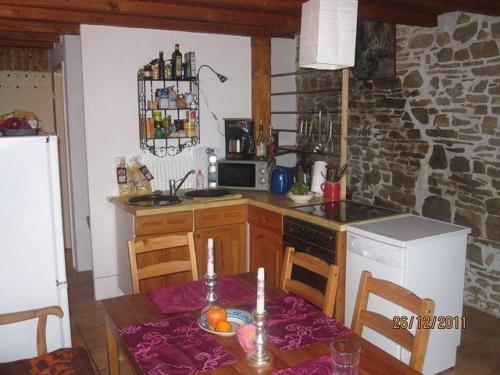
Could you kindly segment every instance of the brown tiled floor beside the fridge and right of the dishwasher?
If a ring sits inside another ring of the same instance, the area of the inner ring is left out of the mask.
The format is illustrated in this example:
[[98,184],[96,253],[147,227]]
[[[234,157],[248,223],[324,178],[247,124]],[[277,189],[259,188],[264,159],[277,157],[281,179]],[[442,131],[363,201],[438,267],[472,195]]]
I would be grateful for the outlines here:
[[[94,301],[91,272],[71,271],[71,255],[67,257],[71,333],[74,346],[85,347],[100,374],[108,373],[104,310]],[[455,368],[443,375],[500,374],[500,319],[464,307],[467,329],[462,331]],[[127,361],[120,356],[121,374],[132,374]]]

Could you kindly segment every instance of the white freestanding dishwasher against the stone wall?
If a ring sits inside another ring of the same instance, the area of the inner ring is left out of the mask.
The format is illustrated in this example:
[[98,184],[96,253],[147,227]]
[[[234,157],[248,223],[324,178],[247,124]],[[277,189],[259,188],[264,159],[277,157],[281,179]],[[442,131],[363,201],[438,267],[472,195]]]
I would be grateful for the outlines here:
[[[423,373],[435,374],[455,365],[463,324],[462,303],[465,252],[469,228],[406,216],[348,227],[346,262],[346,325],[350,327],[361,272],[401,285],[420,298],[435,302],[436,328],[429,337]],[[389,319],[408,316],[403,310],[371,295],[368,309]],[[453,328],[437,329],[437,323],[453,317]],[[456,317],[456,318],[455,318]],[[412,331],[415,331],[416,323]],[[377,332],[363,328],[362,336],[402,361],[409,352]]]

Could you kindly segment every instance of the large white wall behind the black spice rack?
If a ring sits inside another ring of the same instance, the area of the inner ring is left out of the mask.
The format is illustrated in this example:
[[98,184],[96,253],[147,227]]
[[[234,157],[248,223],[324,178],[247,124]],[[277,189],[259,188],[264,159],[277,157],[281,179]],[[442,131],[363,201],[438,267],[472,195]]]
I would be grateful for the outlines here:
[[[250,39],[245,37],[104,26],[81,27],[85,136],[90,217],[97,299],[121,294],[117,286],[117,246],[114,207],[106,197],[116,195],[114,159],[140,154],[137,114],[137,70],[174,44],[181,52],[195,51],[198,66],[209,64],[229,77],[224,84],[208,70],[201,88],[210,108],[224,117],[251,117]],[[201,143],[223,147],[217,122],[201,100]],[[222,126],[222,122],[221,122]],[[185,151],[179,164],[190,162]],[[172,159],[170,159],[172,160]],[[179,177],[179,176],[172,176]]]

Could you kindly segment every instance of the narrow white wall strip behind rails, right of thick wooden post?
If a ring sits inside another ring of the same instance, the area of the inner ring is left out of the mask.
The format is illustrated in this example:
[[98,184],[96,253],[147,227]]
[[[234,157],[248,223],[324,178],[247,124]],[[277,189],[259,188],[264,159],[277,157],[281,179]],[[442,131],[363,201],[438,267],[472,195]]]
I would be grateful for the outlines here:
[[[271,39],[271,74],[295,72],[295,55],[297,42],[295,39]],[[295,76],[274,77],[271,80],[271,92],[295,91]],[[278,95],[271,97],[272,111],[296,111],[295,95]],[[276,129],[296,129],[297,115],[272,115],[271,123]],[[296,134],[280,133],[280,145],[295,144]],[[288,154],[277,158],[278,165],[294,167],[296,165],[295,154]]]

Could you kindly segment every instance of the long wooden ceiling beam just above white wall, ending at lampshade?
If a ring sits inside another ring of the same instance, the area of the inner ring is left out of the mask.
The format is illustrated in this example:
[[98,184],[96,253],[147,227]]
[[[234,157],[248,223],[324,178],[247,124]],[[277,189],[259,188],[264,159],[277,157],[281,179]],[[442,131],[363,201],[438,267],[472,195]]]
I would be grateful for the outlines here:
[[140,27],[244,36],[280,36],[290,34],[294,31],[292,29],[284,28],[283,25],[279,24],[268,27],[259,27],[245,24],[185,21],[177,18],[155,18],[147,16],[131,16],[10,5],[0,5],[0,18],[49,22],[63,19],[66,22],[73,24]]

